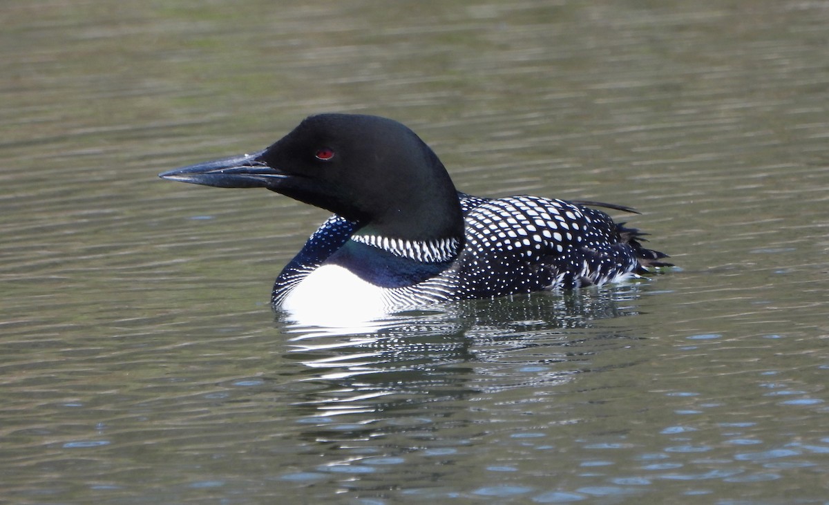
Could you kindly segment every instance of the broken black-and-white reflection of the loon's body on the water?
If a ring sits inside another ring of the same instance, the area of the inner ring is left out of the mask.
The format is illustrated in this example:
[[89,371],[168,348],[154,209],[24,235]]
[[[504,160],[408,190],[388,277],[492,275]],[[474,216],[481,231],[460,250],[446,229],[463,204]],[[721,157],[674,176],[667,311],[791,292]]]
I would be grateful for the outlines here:
[[[288,321],[288,358],[302,362],[307,415],[389,415],[483,391],[550,386],[589,369],[599,348],[632,338],[595,322],[637,313],[642,284],[447,303],[354,328]],[[309,420],[313,422],[313,420]]]

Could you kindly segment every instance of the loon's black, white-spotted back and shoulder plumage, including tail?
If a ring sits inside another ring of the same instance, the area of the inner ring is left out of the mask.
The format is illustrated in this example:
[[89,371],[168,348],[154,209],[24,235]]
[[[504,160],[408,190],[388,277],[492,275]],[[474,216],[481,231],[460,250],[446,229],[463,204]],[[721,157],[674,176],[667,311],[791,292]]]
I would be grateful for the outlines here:
[[[388,308],[605,284],[670,265],[642,247],[637,230],[575,202],[543,197],[473,197],[458,192],[465,242],[458,257],[422,283],[388,288]],[[606,204],[613,208],[624,208]],[[340,249],[357,225],[331,216],[276,279],[271,303],[288,294]]]

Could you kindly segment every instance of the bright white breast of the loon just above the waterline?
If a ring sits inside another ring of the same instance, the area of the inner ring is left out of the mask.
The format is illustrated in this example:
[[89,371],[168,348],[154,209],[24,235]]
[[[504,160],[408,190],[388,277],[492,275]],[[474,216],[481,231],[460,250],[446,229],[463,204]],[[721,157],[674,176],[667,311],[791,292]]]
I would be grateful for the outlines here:
[[322,265],[288,293],[282,308],[300,323],[369,321],[390,311],[386,292],[339,265]]

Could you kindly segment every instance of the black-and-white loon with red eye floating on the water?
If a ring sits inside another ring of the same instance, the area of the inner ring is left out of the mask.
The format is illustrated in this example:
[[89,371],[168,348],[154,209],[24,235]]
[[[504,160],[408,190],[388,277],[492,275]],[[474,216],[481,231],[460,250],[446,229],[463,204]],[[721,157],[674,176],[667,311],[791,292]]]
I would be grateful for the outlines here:
[[[668,266],[599,202],[473,197],[414,132],[357,114],[308,117],[258,153],[162,172],[215,187],[265,187],[334,214],[276,279],[288,312],[430,303],[604,284]],[[635,212],[635,211],[634,211]]]

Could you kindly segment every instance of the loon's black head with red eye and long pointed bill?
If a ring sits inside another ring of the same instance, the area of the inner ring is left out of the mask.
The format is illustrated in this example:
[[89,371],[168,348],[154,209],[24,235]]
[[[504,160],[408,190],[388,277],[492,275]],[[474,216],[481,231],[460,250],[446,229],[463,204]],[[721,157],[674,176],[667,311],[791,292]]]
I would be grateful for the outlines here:
[[438,157],[391,119],[320,114],[262,152],[163,172],[216,187],[266,187],[361,226],[409,240],[463,236],[463,215]]

